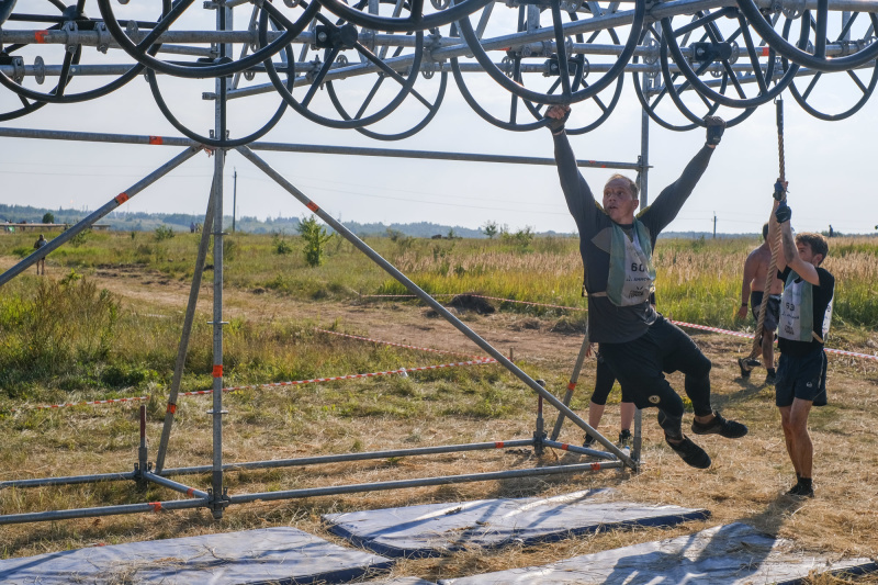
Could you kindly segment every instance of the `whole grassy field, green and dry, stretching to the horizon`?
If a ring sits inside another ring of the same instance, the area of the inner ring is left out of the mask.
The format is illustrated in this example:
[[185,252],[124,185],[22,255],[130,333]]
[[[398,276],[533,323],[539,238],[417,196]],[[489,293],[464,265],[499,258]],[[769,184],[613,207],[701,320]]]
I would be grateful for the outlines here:
[[[0,237],[3,267],[30,254],[31,235]],[[32,271],[0,289],[0,481],[128,471],[136,461],[137,408],[133,405],[31,409],[36,404],[149,395],[150,458],[161,429],[167,387],[179,342],[195,235],[159,240],[151,234],[89,234],[77,246],[54,252],[49,275]],[[579,307],[582,265],[570,238],[416,240],[374,238],[375,248],[435,295],[476,292],[488,296]],[[674,319],[745,330],[734,313],[747,240],[662,240],[656,249],[658,308]],[[279,251],[285,250],[283,254]],[[460,334],[406,300],[360,295],[405,291],[349,244],[330,241],[325,263],[306,268],[301,241],[290,236],[229,237],[225,255],[226,385],[263,384],[316,376],[364,373],[459,361],[452,356],[367,344],[320,334],[315,327],[407,341],[436,349],[479,353]],[[838,281],[829,347],[875,353],[878,347],[878,240],[834,238],[826,268]],[[209,259],[210,262],[210,259]],[[205,283],[212,278],[205,274]],[[202,288],[199,318],[187,359],[183,391],[211,386],[210,285]],[[439,297],[450,300],[451,296]],[[585,319],[582,311],[493,302],[489,315],[460,316],[498,348],[515,348],[515,361],[562,394]],[[791,484],[779,416],[759,373],[738,378],[734,358],[745,339],[694,334],[713,361],[714,405],[745,421],[751,434],[730,442],[701,442],[714,459],[707,472],[686,468],[661,441],[654,414],[644,413],[644,469],[638,474],[604,472],[582,476],[489,482],[365,495],[258,503],[233,507],[215,522],[203,510],[150,516],[15,525],[0,532],[0,556],[25,556],[95,542],[170,538],[267,526],[295,526],[329,540],[319,515],[449,502],[487,496],[553,495],[612,486],[640,502],[706,507],[712,518],[674,529],[608,531],[552,545],[468,551],[444,559],[408,560],[393,575],[435,580],[511,566],[527,566],[635,542],[694,532],[743,520],[796,545],[834,556],[878,555],[878,362],[830,358],[830,405],[810,423],[817,446],[818,498],[790,502]],[[594,363],[583,373],[573,407],[585,414]],[[764,375],[764,374],[763,374]],[[682,391],[682,378],[672,374]],[[207,464],[211,423],[205,397],[180,401],[169,466]],[[498,365],[449,368],[369,380],[225,395],[226,461],[303,457],[393,447],[529,437],[534,398]],[[611,402],[618,401],[614,393]],[[601,426],[618,429],[608,407]],[[551,415],[550,415],[551,416]],[[688,418],[688,415],[687,415]],[[553,416],[552,416],[553,419]],[[581,431],[565,428],[564,440]],[[302,470],[229,473],[233,493],[418,477],[567,460],[550,453],[538,462],[529,451],[381,460]],[[190,481],[190,480],[187,480]],[[196,487],[207,477],[191,479]],[[0,513],[91,507],[173,496],[146,493],[127,483],[0,491]],[[820,583],[829,583],[825,578]],[[842,581],[837,581],[842,582]],[[876,577],[862,583],[878,583]]]

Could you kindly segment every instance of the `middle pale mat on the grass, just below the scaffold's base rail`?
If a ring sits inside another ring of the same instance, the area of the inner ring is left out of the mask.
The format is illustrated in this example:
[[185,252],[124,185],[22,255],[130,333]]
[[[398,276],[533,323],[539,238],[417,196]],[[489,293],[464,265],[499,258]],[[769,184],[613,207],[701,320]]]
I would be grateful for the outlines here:
[[705,509],[612,502],[610,490],[549,498],[502,498],[327,514],[329,531],[386,556],[438,556],[547,542],[623,526],[673,526],[705,519]]

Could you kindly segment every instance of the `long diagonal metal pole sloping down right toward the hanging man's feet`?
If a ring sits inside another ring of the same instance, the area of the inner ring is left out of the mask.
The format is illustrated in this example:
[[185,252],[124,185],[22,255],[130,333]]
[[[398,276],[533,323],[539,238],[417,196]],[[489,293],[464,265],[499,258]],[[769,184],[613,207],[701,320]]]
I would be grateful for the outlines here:
[[331,215],[323,211],[302,191],[296,189],[292,183],[290,183],[286,179],[284,179],[282,175],[275,171],[268,162],[259,158],[256,155],[256,153],[254,153],[246,146],[238,147],[237,151],[240,153],[240,155],[244,156],[244,158],[252,162],[262,172],[271,177],[279,185],[281,185],[295,199],[297,199],[308,210],[315,213],[320,220],[326,222],[327,225],[329,225],[333,229],[335,229],[338,234],[340,234],[345,239],[350,241],[357,249],[359,249],[367,257],[369,257],[369,259],[379,265],[382,269],[384,269],[384,271],[386,271],[394,279],[399,281],[413,294],[415,294],[421,301],[427,303],[434,311],[436,311],[447,322],[453,325],[460,333],[465,335],[475,345],[477,345],[480,348],[486,351],[492,358],[502,363],[504,368],[509,370],[509,372],[511,372],[516,378],[518,378],[521,382],[524,382],[528,387],[530,387],[537,394],[541,395],[545,400],[545,402],[558,408],[561,413],[564,414],[564,416],[573,420],[573,423],[576,424],[579,428],[582,428],[583,430],[595,437],[600,445],[606,447],[610,453],[616,455],[627,466],[629,466],[632,470],[638,469],[638,463],[633,461],[628,454],[626,454],[621,449],[616,447],[609,439],[607,439],[598,431],[593,429],[590,426],[588,426],[588,424],[585,420],[583,420],[576,413],[571,410],[563,402],[558,400],[558,397],[555,397],[554,394],[543,389],[540,384],[537,383],[536,380],[530,378],[527,373],[525,373],[524,370],[518,368],[518,365],[513,363],[509,359],[506,358],[506,356],[504,356],[500,351],[494,348],[494,346],[488,344],[486,340],[482,339],[482,337],[480,337],[475,331],[470,329],[458,317],[452,315],[444,306],[442,306],[439,302],[437,302],[432,296],[423,291],[417,284],[412,282],[405,274],[399,272],[393,265],[391,265],[387,260],[385,260],[381,255],[379,255],[375,250],[370,248],[369,245],[367,245],[363,240],[358,238],[350,229],[345,227],[340,222],[335,220]]

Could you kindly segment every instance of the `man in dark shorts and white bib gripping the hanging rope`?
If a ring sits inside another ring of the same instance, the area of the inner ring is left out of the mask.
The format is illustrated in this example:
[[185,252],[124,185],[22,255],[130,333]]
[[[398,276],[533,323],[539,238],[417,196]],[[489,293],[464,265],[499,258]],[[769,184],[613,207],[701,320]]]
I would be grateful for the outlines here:
[[811,482],[814,446],[808,434],[808,415],[811,406],[826,404],[823,340],[832,319],[835,278],[820,268],[829,254],[826,238],[808,233],[793,238],[791,215],[786,201],[775,202],[772,232],[776,234],[779,224],[784,257],[778,259],[778,278],[785,283],[777,329],[780,360],[775,404],[780,409],[784,439],[796,471],[796,485],[787,495],[814,497]]

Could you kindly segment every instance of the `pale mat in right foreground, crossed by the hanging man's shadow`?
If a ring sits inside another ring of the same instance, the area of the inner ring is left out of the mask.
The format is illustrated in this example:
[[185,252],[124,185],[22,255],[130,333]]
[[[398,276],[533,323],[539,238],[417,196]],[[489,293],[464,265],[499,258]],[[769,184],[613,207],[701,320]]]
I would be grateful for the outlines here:
[[734,522],[695,535],[585,554],[542,566],[440,580],[439,585],[789,585],[800,583],[812,571],[864,573],[875,570],[876,565],[869,559],[832,562],[826,554],[795,551],[789,540]]

